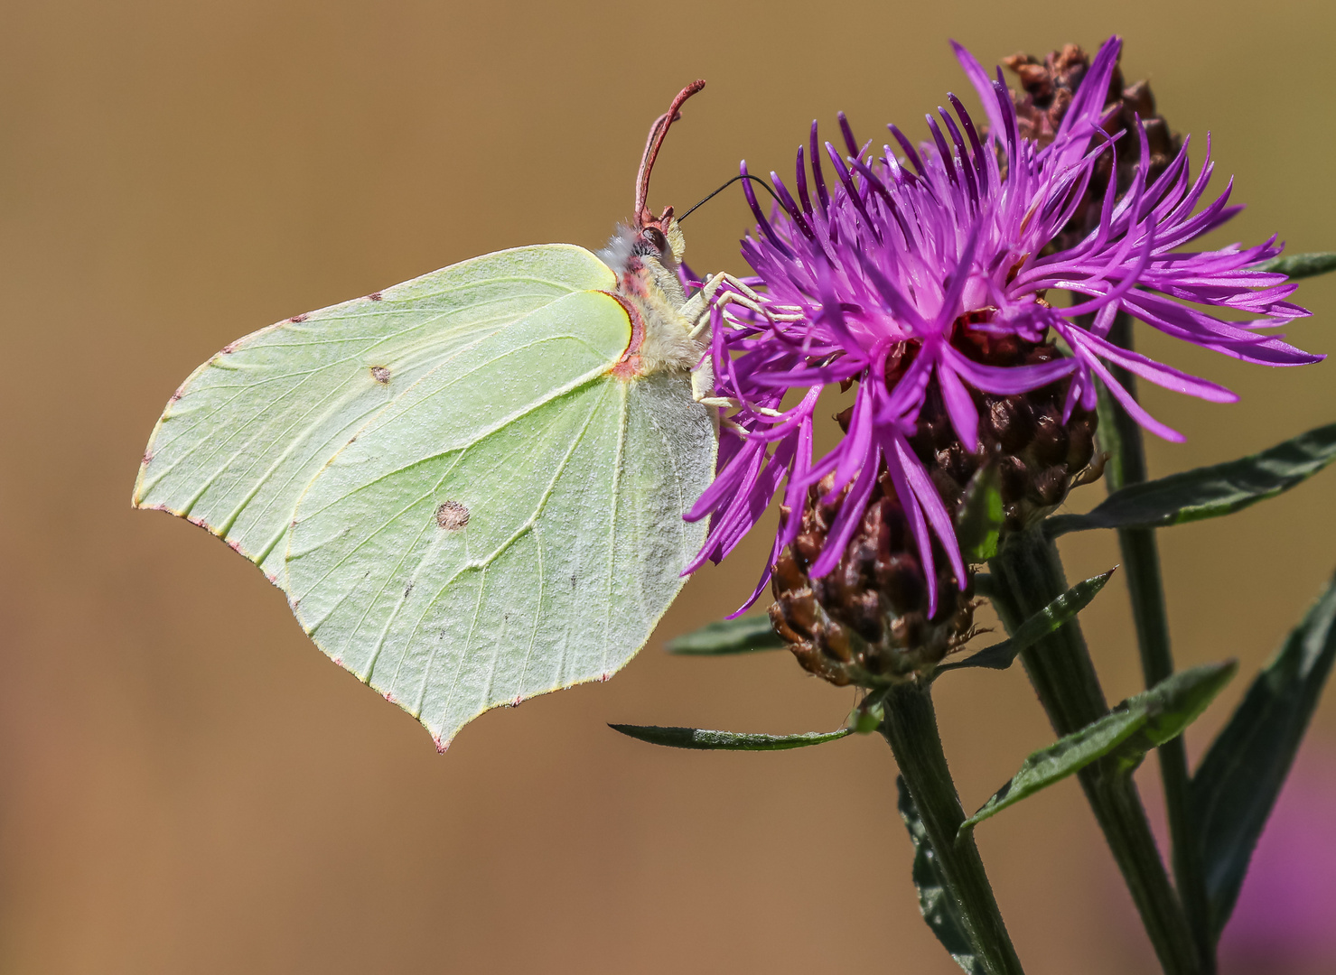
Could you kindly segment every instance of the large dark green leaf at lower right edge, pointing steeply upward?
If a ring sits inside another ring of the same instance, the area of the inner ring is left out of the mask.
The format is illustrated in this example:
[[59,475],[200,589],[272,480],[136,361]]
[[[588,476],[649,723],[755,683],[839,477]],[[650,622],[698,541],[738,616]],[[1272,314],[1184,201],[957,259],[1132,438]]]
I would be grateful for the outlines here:
[[1336,660],[1336,580],[1248,688],[1192,780],[1212,931],[1234,908],[1253,847],[1276,804]]

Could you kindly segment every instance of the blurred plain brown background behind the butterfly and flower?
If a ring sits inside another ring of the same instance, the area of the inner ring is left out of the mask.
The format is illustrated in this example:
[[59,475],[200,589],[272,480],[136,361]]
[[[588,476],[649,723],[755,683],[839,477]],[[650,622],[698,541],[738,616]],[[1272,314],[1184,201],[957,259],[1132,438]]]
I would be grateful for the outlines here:
[[[1320,0],[0,9],[5,972],[955,971],[918,918],[880,740],[701,755],[605,728],[843,720],[851,695],[787,654],[661,652],[739,602],[758,545],[696,578],[611,684],[488,715],[438,756],[306,641],[254,566],[128,505],[168,394],[230,339],[485,251],[600,246],[685,81],[709,88],[652,194],[679,211],[741,156],[791,167],[814,116],[922,135],[915,120],[967,89],[947,37],[993,64],[1120,32],[1128,76],[1197,135],[1194,163],[1209,130],[1216,186],[1237,175],[1249,208],[1217,243],[1336,248],[1336,17]],[[689,258],[737,270],[745,226],[729,192],[687,224]],[[1293,339],[1336,351],[1336,280],[1299,301],[1315,318]],[[1152,394],[1189,437],[1152,443],[1156,471],[1336,419],[1329,363],[1269,371],[1142,341],[1244,397]],[[1162,536],[1181,664],[1271,653],[1336,565],[1333,505],[1327,474]],[[1073,577],[1118,558],[1109,537],[1066,554]],[[1125,605],[1110,586],[1085,617],[1113,697],[1138,682]],[[1196,753],[1242,684],[1192,731]],[[1018,672],[953,674],[938,699],[966,805],[1050,740]],[[1150,968],[1074,784],[979,841],[1031,972]]]

